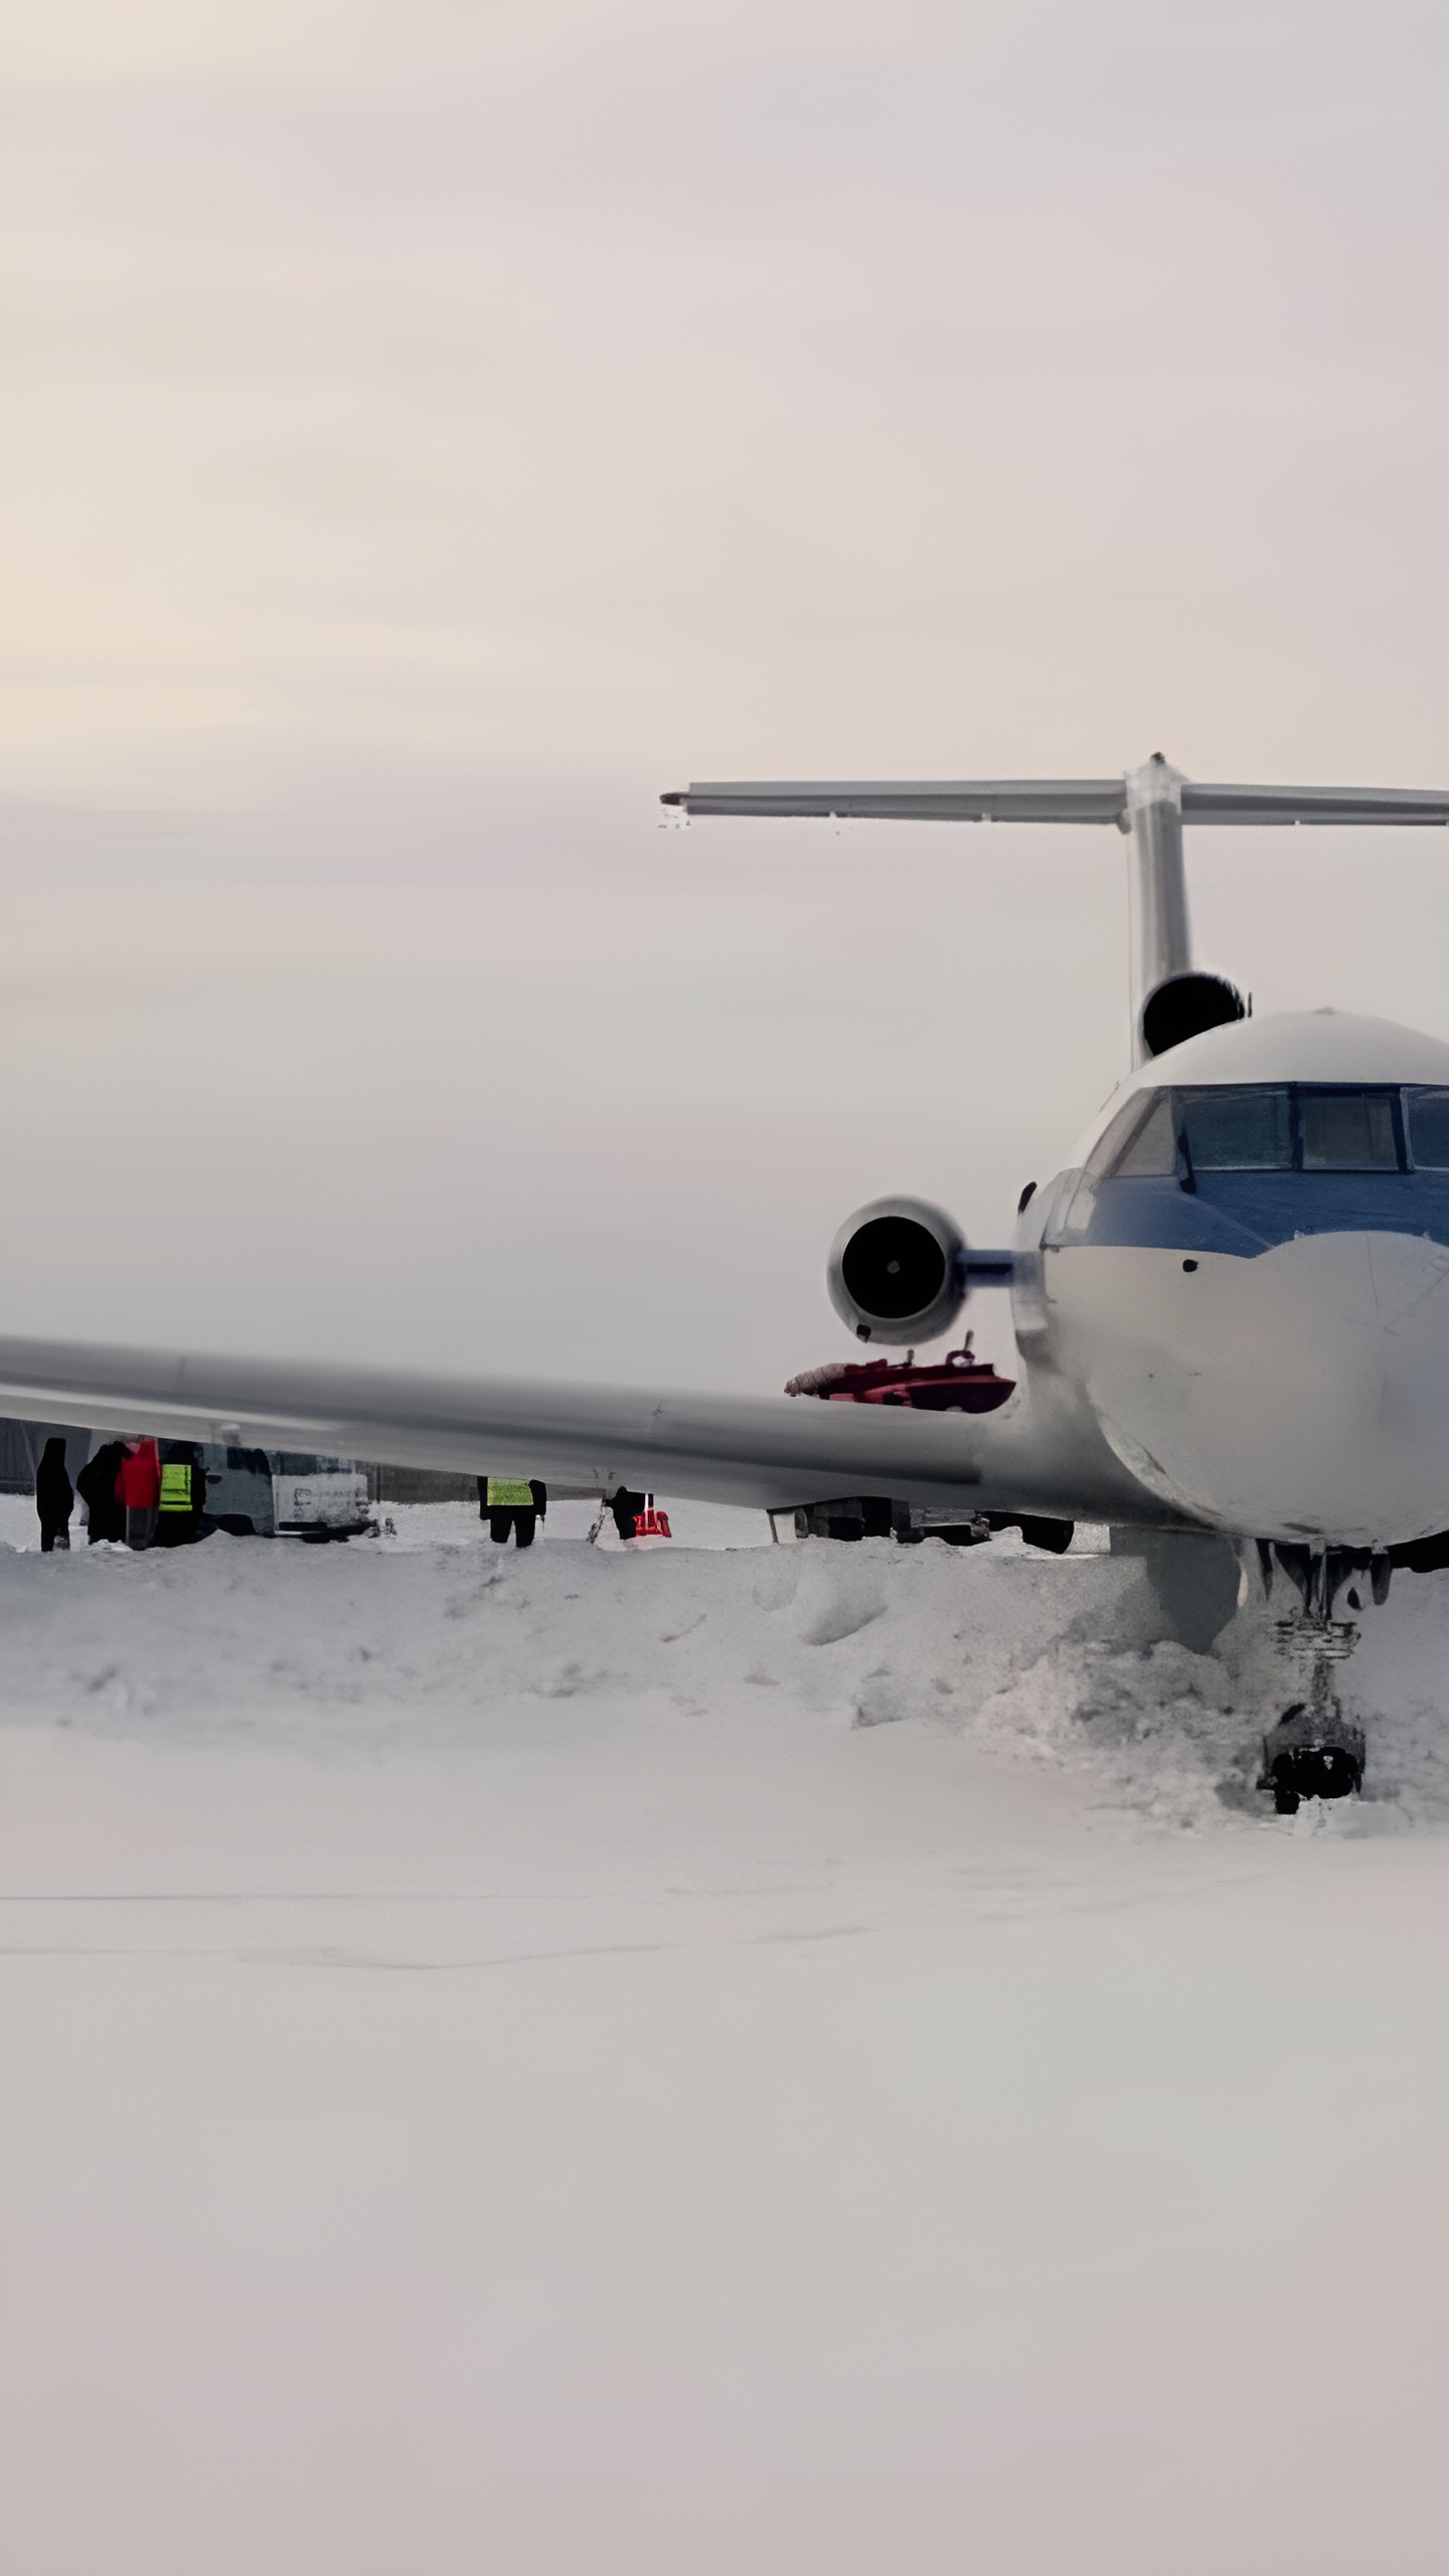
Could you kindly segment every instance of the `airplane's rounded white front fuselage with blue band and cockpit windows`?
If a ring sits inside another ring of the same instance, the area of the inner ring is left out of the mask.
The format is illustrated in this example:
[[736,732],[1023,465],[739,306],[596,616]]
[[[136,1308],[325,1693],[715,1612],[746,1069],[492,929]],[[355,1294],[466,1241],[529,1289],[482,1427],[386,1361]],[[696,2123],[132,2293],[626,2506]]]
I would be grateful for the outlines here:
[[1171,1515],[1449,1530],[1449,1046],[1305,1012],[1140,1066],[1024,1211],[1016,1329]]

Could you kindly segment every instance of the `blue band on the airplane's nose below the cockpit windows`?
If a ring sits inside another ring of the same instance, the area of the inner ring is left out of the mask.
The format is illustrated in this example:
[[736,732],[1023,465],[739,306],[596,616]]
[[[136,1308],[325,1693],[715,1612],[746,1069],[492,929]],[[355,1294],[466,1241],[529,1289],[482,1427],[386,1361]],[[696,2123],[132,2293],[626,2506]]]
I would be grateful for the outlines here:
[[1294,1234],[1418,1234],[1449,1244],[1449,1172],[1199,1172],[1196,1190],[1171,1177],[1101,1180],[1091,1226],[1065,1242],[1253,1260]]

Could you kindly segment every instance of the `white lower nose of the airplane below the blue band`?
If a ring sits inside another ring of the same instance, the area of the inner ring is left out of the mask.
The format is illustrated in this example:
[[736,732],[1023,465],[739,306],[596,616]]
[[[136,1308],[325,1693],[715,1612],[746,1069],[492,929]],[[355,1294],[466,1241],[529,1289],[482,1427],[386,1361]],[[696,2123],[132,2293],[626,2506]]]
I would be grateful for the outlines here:
[[1052,1267],[1062,1360],[1163,1502],[1338,1546],[1449,1528],[1449,1247],[1297,1234],[1256,1260],[1104,1244]]

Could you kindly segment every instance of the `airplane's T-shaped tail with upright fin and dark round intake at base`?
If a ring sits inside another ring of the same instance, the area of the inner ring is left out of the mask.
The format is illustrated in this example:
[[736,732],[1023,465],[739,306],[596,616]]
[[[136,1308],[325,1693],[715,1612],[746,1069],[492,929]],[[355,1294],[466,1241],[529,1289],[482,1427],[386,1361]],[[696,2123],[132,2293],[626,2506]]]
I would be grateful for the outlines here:
[[1191,963],[1186,822],[1449,824],[1449,796],[1418,788],[1204,786],[1152,752],[1124,778],[758,781],[673,788],[686,814],[815,814],[851,822],[1114,822],[1132,842],[1132,1061],[1243,1018],[1227,976]]

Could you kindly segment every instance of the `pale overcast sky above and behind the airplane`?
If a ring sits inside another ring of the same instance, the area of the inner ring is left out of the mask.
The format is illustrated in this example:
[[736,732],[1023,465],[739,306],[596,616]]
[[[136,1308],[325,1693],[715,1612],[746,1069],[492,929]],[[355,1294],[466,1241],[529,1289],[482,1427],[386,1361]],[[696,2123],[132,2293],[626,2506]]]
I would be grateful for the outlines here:
[[[719,775],[1449,786],[1428,0],[10,0],[0,1324],[665,1383],[1008,1236],[1111,832]],[[1444,835],[1199,832],[1449,1036]],[[1003,1309],[980,1301],[987,1347]]]

